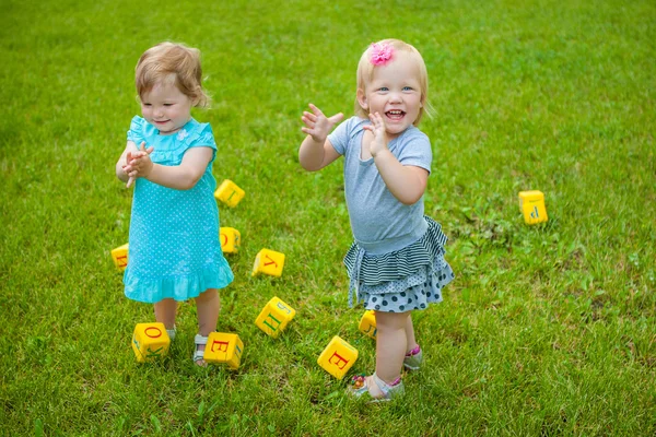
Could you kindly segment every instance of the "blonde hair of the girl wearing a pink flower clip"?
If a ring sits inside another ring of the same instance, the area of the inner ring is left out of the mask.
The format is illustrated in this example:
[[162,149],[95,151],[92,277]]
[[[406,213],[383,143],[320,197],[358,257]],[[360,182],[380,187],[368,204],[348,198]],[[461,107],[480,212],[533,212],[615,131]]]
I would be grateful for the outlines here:
[[[419,70],[419,84],[421,86],[421,104],[422,107],[419,108],[419,115],[417,116],[417,120],[412,125],[418,126],[423,117],[424,113],[429,116],[432,116],[433,109],[429,103],[429,72],[426,70],[426,64],[421,57],[421,54],[418,49],[411,46],[408,43],[403,43],[400,39],[383,39],[375,44],[378,45],[389,45],[393,47],[393,58],[394,61],[394,52],[403,51],[410,55],[410,59],[417,66]],[[372,57],[372,46],[367,47],[362,54],[360,58],[360,62],[358,62],[358,90],[366,91],[366,84],[370,83],[374,79],[374,71],[376,66],[371,62]],[[368,118],[368,113],[360,106],[358,102],[358,97],[355,97],[355,115],[361,118]]]

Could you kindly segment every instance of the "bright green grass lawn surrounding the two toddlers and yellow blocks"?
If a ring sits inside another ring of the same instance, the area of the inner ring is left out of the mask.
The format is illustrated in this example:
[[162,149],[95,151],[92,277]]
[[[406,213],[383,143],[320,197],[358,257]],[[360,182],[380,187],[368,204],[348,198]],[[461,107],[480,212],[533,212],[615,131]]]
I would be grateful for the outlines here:
[[[194,4],[191,4],[194,3]],[[656,5],[652,1],[15,1],[0,19],[0,433],[14,435],[656,434]],[[417,312],[426,367],[387,405],[347,399],[316,364],[339,334],[371,371],[348,309],[341,165],[302,170],[300,116],[352,113],[373,40],[423,54],[436,117],[426,212],[457,279]],[[196,368],[194,305],[161,363],[138,365],[109,250],[131,191],[114,176],[138,114],[133,67],[164,39],[199,47],[219,181],[246,190],[221,222],[219,330],[238,371]],[[546,193],[526,226],[517,192]],[[281,279],[250,277],[262,247]],[[284,335],[254,326],[279,296]]]

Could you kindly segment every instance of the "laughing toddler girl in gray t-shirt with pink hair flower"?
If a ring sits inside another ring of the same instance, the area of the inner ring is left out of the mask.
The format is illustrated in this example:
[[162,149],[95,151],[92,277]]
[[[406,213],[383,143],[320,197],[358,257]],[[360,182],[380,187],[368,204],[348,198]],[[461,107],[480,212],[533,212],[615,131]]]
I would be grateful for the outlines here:
[[[388,400],[403,392],[401,368],[417,370],[422,352],[412,310],[442,300],[454,273],[444,260],[446,236],[424,216],[423,193],[431,172],[429,138],[418,128],[429,81],[419,51],[398,39],[368,47],[358,66],[355,117],[333,126],[309,105],[298,150],[303,168],[319,170],[344,156],[344,187],[355,241],[344,263],[349,304],[353,295],[376,316],[376,371],[354,377],[350,392]],[[329,134],[330,133],[330,134]]]

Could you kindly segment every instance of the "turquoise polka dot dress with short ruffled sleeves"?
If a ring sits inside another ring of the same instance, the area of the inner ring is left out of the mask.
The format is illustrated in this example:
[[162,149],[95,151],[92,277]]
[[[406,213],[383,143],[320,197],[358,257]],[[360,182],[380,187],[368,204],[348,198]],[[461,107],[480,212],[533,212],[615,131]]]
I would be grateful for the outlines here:
[[[134,117],[128,140],[153,146],[153,163],[175,166],[190,147],[216,151],[209,123],[189,120],[178,132],[160,135]],[[212,158],[213,162],[213,158]],[[176,190],[138,178],[134,185],[125,294],[138,302],[186,300],[208,288],[223,288],[234,279],[219,243],[216,181],[212,162],[189,190]]]

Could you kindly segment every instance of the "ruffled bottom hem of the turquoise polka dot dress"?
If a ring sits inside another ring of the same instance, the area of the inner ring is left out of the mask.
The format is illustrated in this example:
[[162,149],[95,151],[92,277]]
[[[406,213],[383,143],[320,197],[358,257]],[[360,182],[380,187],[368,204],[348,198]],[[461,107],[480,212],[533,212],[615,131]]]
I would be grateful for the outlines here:
[[179,302],[192,299],[208,288],[224,288],[233,280],[234,274],[227,262],[223,260],[223,263],[209,265],[187,275],[155,280],[130,275],[128,265],[124,282],[126,284],[126,297],[137,302],[155,304],[167,298]]

